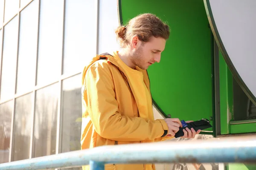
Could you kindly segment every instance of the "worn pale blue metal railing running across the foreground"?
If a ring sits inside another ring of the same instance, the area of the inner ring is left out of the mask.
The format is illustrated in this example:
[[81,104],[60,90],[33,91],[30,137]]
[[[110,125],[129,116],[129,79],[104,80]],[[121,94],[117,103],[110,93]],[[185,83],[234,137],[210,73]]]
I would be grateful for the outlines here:
[[95,147],[0,164],[0,170],[81,167],[104,170],[104,164],[131,163],[256,163],[256,136],[183,142],[155,142]]

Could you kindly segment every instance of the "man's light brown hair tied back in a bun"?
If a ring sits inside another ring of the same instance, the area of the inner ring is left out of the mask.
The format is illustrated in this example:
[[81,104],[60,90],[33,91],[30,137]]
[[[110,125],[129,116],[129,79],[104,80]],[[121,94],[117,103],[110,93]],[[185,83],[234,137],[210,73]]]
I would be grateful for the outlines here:
[[148,42],[151,36],[169,39],[170,30],[166,23],[163,23],[154,14],[140,14],[132,18],[127,26],[119,26],[116,29],[116,37],[121,47],[128,45],[131,37],[139,37],[142,42]]

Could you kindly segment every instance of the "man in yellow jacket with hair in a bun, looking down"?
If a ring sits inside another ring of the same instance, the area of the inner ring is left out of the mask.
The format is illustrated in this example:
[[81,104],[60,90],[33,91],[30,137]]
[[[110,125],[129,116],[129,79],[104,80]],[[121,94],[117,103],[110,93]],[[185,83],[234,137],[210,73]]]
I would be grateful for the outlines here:
[[[179,119],[154,120],[146,69],[160,62],[169,26],[153,14],[141,14],[116,30],[121,50],[96,55],[82,77],[81,149],[171,139]],[[195,130],[184,130],[194,138]],[[102,150],[104,152],[104,150]],[[89,167],[86,167],[89,169]],[[151,170],[154,164],[107,164],[107,170]]]

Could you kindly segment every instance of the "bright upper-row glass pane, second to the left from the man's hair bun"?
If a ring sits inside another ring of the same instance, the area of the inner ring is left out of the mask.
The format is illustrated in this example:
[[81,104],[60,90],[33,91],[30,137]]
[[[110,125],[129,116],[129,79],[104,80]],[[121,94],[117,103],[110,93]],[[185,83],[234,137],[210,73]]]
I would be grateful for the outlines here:
[[96,7],[94,0],[66,0],[63,73],[82,71],[96,54]]

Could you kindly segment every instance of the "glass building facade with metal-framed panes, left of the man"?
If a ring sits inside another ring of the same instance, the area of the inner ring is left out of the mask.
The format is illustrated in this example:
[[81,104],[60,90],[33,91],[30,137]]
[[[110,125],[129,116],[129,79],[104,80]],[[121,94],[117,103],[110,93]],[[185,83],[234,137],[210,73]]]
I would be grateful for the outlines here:
[[81,72],[117,50],[116,6],[0,0],[0,163],[81,149]]

